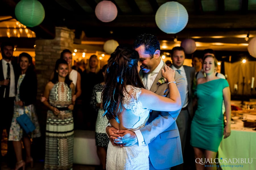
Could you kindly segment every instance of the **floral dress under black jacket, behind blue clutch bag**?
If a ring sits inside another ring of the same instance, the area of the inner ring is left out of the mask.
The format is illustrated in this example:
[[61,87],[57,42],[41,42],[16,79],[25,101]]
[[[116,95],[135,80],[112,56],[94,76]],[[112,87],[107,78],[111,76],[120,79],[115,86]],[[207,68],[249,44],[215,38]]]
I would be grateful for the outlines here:
[[[20,101],[20,84],[22,83],[24,77],[25,77],[25,74],[21,74],[19,76],[15,101]],[[28,106],[14,105],[13,120],[11,123],[11,128],[10,128],[10,133],[8,138],[9,141],[20,141],[22,139],[23,129],[20,127],[20,125],[16,121],[16,118],[23,114],[27,114],[28,117],[31,119],[32,123],[36,127],[36,129],[31,133],[31,137],[34,138],[34,137],[41,136],[40,127],[39,127],[34,104],[30,104]]]

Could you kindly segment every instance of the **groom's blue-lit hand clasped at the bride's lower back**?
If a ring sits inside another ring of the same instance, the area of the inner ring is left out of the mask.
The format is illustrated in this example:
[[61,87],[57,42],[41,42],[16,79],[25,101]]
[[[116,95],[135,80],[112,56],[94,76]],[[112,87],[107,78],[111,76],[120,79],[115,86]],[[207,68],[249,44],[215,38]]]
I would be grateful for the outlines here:
[[123,146],[132,146],[135,143],[138,142],[137,136],[134,132],[130,131],[130,130],[117,130],[114,131],[113,133],[119,135],[121,138],[114,138],[114,143]]

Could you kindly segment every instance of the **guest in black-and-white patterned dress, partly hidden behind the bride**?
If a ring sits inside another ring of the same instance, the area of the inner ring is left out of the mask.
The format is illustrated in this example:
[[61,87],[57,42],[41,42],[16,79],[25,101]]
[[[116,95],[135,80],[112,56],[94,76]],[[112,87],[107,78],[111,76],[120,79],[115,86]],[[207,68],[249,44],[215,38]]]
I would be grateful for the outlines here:
[[[102,74],[105,76],[107,64],[102,67]],[[108,142],[109,138],[106,134],[106,126],[108,124],[108,119],[106,116],[103,117],[104,110],[102,107],[101,101],[101,92],[105,82],[101,82],[96,84],[92,91],[92,99],[90,104],[92,107],[98,112],[96,126],[95,126],[95,141],[97,146],[97,154],[100,158],[100,163],[102,165],[102,169],[106,169],[106,156],[107,156],[107,149],[108,149]]]

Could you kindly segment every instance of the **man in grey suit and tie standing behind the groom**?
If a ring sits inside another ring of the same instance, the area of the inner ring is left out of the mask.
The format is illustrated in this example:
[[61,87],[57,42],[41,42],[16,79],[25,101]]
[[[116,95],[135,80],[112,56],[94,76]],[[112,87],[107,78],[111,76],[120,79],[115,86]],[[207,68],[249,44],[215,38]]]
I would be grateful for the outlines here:
[[[185,51],[183,47],[174,47],[172,49],[172,66],[171,68],[173,70],[177,70],[181,76],[185,78],[185,84],[186,84],[186,97],[185,97],[185,102],[182,106],[181,112],[179,113],[179,116],[176,120],[177,126],[179,129],[179,136],[181,140],[181,147],[182,147],[182,154],[183,154],[183,159],[185,161],[185,146],[186,146],[186,141],[190,140],[190,125],[191,125],[191,120],[193,117],[193,95],[192,95],[192,86],[193,86],[193,80],[195,77],[195,68],[190,67],[190,66],[185,66],[184,61],[185,61]],[[193,158],[191,158],[193,159]],[[182,165],[178,165],[174,169],[183,169]]]

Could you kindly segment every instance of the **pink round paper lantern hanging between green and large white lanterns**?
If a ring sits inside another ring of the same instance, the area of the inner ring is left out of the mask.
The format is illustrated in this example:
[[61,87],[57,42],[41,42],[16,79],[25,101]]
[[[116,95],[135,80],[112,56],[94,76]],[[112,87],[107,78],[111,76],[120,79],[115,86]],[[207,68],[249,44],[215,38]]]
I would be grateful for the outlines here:
[[95,14],[102,22],[110,22],[116,18],[117,8],[111,1],[101,1],[95,8]]

